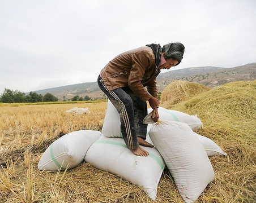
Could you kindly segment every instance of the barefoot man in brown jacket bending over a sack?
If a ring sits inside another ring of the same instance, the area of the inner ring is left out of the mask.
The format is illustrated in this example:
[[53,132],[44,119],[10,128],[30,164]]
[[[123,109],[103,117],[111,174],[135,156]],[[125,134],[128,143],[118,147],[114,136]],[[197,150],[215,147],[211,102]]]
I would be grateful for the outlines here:
[[[127,148],[134,155],[148,156],[140,145],[153,147],[146,142],[147,103],[152,108],[152,119],[157,121],[159,100],[156,77],[161,69],[181,63],[185,47],[182,43],[151,44],[123,52],[101,70],[98,78],[100,89],[108,96],[120,114],[121,133]],[[147,87],[147,89],[145,88]]]

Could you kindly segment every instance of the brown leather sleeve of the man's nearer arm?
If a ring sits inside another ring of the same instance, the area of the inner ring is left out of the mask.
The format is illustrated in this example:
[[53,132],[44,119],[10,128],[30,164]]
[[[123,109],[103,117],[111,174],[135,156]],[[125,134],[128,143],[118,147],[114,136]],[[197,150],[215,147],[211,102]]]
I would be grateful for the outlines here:
[[131,70],[128,78],[128,86],[133,92],[143,100],[151,98],[151,94],[142,85],[143,76],[146,68],[151,64],[151,55],[146,51],[135,53],[131,60]]

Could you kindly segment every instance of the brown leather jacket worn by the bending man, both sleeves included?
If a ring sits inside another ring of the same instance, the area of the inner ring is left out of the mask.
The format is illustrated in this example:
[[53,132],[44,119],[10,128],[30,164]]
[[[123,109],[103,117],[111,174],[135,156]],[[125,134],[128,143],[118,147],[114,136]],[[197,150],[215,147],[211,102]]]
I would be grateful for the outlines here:
[[147,101],[151,96],[158,96],[156,76],[159,73],[152,48],[143,46],[116,56],[101,70],[100,76],[109,91],[129,86]]

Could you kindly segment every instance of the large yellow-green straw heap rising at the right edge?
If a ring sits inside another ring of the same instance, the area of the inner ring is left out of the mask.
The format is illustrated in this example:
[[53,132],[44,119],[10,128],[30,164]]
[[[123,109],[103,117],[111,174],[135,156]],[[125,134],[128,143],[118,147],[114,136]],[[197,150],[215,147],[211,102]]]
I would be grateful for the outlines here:
[[223,127],[250,139],[255,135],[256,81],[231,82],[174,105],[177,111],[197,114],[204,125]]

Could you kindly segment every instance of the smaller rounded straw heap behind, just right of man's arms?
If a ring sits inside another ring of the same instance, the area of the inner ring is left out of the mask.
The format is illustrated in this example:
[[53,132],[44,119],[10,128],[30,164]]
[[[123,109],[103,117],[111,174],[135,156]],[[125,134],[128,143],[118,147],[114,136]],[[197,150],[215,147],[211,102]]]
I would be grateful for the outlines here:
[[161,94],[161,106],[171,108],[172,105],[193,98],[203,92],[211,90],[210,87],[188,81],[173,81]]

